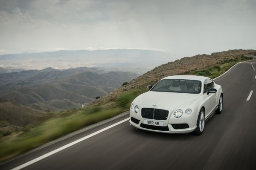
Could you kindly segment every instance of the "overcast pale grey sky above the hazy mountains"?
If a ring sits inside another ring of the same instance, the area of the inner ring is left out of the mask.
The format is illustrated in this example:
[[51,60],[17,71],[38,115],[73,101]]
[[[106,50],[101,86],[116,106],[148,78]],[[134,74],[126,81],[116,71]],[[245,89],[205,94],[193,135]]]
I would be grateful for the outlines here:
[[256,49],[256,0],[0,0],[0,55]]

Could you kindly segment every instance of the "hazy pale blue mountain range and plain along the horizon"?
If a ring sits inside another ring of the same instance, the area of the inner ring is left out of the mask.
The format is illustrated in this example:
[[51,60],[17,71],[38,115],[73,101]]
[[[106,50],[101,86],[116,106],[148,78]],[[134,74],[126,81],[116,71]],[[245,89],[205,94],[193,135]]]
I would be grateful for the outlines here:
[[143,74],[160,64],[174,61],[169,53],[143,49],[76,50],[0,55],[0,66],[26,70],[67,69],[70,67],[104,67],[108,71],[128,71]]

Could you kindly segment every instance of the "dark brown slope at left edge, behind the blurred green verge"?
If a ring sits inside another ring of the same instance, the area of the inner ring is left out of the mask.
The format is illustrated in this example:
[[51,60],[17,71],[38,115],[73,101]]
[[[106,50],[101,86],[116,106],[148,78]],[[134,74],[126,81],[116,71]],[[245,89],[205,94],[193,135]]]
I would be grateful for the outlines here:
[[43,115],[43,112],[0,98],[0,138],[36,124]]

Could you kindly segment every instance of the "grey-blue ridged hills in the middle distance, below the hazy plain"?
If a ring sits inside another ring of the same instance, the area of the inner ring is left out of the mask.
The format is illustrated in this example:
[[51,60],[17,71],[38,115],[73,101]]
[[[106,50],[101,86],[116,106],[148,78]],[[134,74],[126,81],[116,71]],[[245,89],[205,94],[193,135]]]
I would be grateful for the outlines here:
[[43,111],[73,109],[137,77],[88,67],[4,73],[0,74],[0,97]]

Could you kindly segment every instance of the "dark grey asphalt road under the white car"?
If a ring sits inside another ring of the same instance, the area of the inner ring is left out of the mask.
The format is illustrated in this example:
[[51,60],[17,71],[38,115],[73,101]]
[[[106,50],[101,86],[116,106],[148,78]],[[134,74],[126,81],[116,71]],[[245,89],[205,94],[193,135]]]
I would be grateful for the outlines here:
[[[125,121],[31,164],[27,170],[173,169],[256,170],[256,60],[239,63],[217,78],[224,91],[220,115],[207,121],[204,134],[171,135],[136,130]],[[247,98],[253,90],[250,100]],[[102,128],[58,141],[0,165],[11,169]]]

